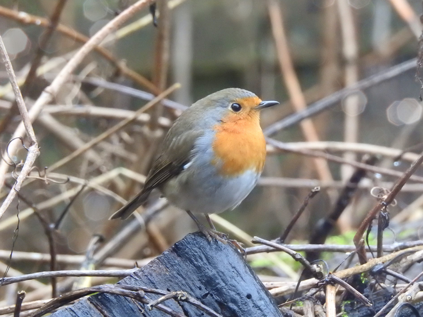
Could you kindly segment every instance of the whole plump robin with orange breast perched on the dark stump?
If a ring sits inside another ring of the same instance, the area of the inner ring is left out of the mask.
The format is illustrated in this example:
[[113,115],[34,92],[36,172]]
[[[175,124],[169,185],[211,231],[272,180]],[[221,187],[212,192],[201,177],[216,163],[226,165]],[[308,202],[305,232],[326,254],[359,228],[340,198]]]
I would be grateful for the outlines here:
[[[233,209],[253,190],[266,159],[261,109],[279,104],[228,88],[198,100],[170,127],[144,188],[110,219],[128,218],[157,188],[211,241],[225,241],[210,213]],[[210,229],[194,214],[203,213]]]

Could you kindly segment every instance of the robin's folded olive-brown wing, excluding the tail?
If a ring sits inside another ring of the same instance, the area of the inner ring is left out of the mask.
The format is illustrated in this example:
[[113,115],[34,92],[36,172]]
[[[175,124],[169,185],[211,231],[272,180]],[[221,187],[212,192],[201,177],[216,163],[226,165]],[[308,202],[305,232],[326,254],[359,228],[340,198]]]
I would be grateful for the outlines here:
[[149,192],[178,175],[190,161],[195,140],[202,134],[202,130],[189,130],[173,139],[165,139],[162,154],[148,173],[142,192]]

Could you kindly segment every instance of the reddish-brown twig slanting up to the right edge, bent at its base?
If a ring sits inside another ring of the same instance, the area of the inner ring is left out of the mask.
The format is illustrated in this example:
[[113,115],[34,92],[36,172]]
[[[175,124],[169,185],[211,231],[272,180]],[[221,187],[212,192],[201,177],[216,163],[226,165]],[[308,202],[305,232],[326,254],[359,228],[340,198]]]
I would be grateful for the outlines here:
[[420,154],[418,159],[414,161],[411,166],[407,169],[406,172],[404,172],[403,176],[396,182],[396,184],[393,186],[392,190],[389,194],[387,194],[381,201],[374,206],[372,210],[369,211],[363,222],[360,224],[360,227],[358,228],[356,234],[354,235],[354,244],[357,247],[357,253],[358,257],[360,259],[360,263],[363,264],[367,261],[367,257],[365,254],[364,244],[361,244],[360,241],[363,238],[363,234],[365,230],[367,229],[370,222],[374,219],[376,214],[382,210],[382,208],[385,208],[393,202],[395,196],[399,193],[402,186],[409,180],[410,176],[420,167],[420,164],[423,162],[423,152]]

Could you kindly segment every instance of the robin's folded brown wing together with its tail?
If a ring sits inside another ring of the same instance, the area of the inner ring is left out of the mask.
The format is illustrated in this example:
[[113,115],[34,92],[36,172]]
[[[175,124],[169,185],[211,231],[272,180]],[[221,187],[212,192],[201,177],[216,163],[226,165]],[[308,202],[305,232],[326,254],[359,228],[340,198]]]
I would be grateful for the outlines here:
[[163,142],[162,154],[156,159],[146,178],[143,189],[121,209],[113,213],[110,219],[128,218],[140,205],[147,200],[154,189],[178,175],[190,160],[190,153],[195,139],[203,134],[202,130],[186,131],[179,137],[170,139],[170,131]]

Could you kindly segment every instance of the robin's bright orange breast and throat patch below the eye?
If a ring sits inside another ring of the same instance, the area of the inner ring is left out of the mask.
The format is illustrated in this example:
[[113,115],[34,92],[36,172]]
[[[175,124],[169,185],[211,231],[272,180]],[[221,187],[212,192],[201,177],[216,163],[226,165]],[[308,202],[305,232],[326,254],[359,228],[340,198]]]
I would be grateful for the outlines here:
[[266,160],[266,141],[258,111],[251,111],[241,118],[229,114],[222,123],[214,126],[214,131],[213,164],[220,166],[221,175],[240,175],[249,169],[261,173]]

